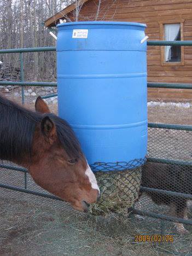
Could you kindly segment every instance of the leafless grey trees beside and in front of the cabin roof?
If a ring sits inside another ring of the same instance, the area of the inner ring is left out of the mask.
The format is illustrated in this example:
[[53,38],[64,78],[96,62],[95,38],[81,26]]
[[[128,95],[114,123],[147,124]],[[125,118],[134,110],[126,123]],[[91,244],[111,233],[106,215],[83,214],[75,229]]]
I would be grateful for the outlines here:
[[[94,0],[94,2],[95,15],[84,17],[81,13],[83,0],[0,0],[0,47],[10,49],[55,46],[55,39],[42,25],[44,20],[59,11],[67,21],[103,20],[108,10],[114,9],[117,1],[110,1],[107,8],[103,4],[104,0]],[[62,11],[69,4],[74,4],[73,16],[65,15]],[[0,55],[0,61],[16,68],[20,65],[18,54]],[[53,81],[56,79],[56,54],[53,52],[25,53],[24,69],[26,80]]]

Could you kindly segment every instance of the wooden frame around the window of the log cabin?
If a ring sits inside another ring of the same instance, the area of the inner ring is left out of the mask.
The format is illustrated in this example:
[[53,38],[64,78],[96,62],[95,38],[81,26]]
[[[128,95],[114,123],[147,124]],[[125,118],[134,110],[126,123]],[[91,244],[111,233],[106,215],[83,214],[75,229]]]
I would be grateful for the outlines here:
[[[184,20],[171,20],[159,22],[160,25],[160,40],[165,40],[165,24],[180,24],[181,29],[181,41],[183,41],[183,23]],[[165,46],[161,46],[161,66],[184,66],[184,46],[181,46],[181,61],[180,62],[165,62]]]

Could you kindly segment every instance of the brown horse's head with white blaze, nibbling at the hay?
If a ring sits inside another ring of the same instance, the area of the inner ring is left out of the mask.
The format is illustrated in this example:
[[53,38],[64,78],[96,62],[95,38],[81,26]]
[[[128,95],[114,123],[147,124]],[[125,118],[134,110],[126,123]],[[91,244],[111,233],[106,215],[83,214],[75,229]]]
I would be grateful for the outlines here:
[[36,112],[42,119],[36,124],[32,142],[32,161],[28,169],[40,187],[87,211],[97,201],[100,190],[79,142],[68,123],[51,114],[38,97]]

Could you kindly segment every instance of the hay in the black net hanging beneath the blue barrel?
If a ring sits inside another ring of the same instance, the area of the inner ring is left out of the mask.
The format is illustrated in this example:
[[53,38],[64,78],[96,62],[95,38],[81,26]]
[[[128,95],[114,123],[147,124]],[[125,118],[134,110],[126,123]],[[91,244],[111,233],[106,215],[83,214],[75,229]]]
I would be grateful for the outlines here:
[[101,190],[101,198],[90,206],[89,212],[94,215],[127,214],[127,209],[138,198],[141,167],[125,171],[98,171],[95,176]]

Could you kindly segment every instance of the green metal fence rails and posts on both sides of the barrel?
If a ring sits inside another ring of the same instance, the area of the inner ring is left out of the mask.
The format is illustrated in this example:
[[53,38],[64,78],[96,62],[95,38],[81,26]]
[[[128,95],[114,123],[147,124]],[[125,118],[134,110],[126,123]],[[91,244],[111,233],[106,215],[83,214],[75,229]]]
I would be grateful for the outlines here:
[[[148,41],[147,45],[154,46],[165,46],[165,45],[174,45],[174,46],[192,46],[192,41]],[[23,62],[23,54],[24,53],[30,53],[30,52],[40,52],[40,51],[56,51],[56,47],[39,47],[39,48],[22,48],[22,49],[4,49],[0,50],[0,54],[9,54],[9,53],[19,53],[20,54],[20,70],[21,70],[21,81],[20,82],[0,82],[0,85],[20,85],[22,86],[22,103],[25,101],[24,96],[24,86],[57,86],[57,83],[50,83],[50,82],[25,82],[24,81],[24,62]],[[148,83],[148,88],[170,88],[170,89],[192,89],[192,84],[178,84],[178,83]],[[57,94],[51,94],[46,95],[43,98],[49,98],[57,96]],[[173,125],[173,124],[156,124],[156,123],[149,123],[148,127],[150,128],[158,128],[158,129],[171,129],[171,130],[183,130],[183,131],[192,131],[192,126],[187,125]],[[175,165],[184,165],[184,166],[192,166],[192,161],[180,161],[180,160],[173,160],[173,159],[158,159],[158,158],[149,158],[149,161],[152,162],[161,162],[165,164],[175,164]],[[15,187],[7,184],[0,183],[1,188],[7,188],[11,190],[18,190],[24,193],[28,194],[35,194],[39,196],[49,197],[51,199],[58,199],[58,197],[45,194],[45,193],[39,193],[37,191],[28,190],[27,189],[27,170],[22,167],[13,166],[13,165],[6,165],[6,164],[0,164],[0,168],[8,168],[10,170],[20,171],[24,173],[25,176],[25,188]],[[156,191],[158,193],[167,194],[167,195],[176,195],[180,197],[184,197],[187,199],[192,199],[192,195],[190,194],[183,194],[183,193],[176,193],[173,191],[166,191],[161,189],[152,189],[152,188],[146,188],[142,187],[141,190],[143,191]],[[133,209],[133,213],[140,214],[143,216],[149,216],[153,218],[160,218],[165,220],[170,220],[172,222],[181,222],[185,224],[191,224],[192,220],[185,220],[181,218],[176,217],[170,217],[166,216],[164,214],[159,213],[152,213],[147,211],[139,211],[136,209]]]

